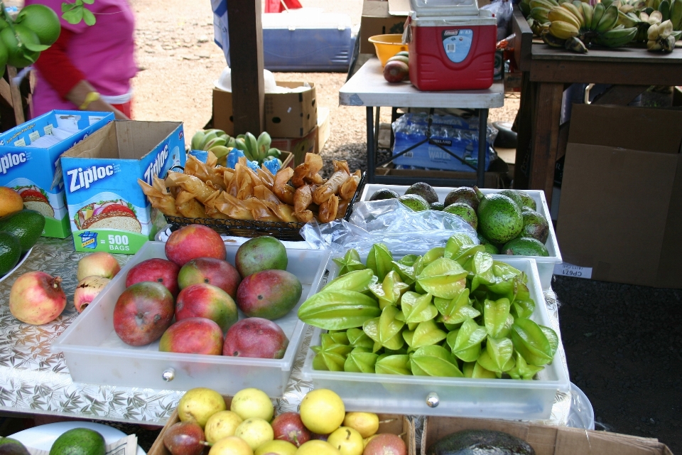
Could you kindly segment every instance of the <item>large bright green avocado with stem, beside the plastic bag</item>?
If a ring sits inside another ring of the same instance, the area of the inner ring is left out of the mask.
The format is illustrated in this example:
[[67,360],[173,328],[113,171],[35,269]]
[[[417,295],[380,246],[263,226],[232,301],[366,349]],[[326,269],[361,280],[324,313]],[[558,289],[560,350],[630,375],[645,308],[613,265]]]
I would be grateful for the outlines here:
[[500,193],[483,196],[474,188],[481,200],[478,205],[478,227],[482,235],[494,243],[509,242],[524,227],[521,208],[514,200]]

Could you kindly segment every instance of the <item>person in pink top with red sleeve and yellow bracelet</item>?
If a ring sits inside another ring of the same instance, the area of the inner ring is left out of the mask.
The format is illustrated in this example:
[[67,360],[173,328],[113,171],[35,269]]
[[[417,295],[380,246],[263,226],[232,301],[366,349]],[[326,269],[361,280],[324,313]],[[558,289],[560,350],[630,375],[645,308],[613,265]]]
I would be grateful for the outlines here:
[[[26,0],[49,6],[58,15],[64,0]],[[48,50],[40,53],[33,92],[33,117],[52,109],[114,112],[131,117],[131,79],[134,59],[133,11],[126,0],[95,0],[85,7],[97,18],[93,26],[70,24],[60,18],[62,31]]]

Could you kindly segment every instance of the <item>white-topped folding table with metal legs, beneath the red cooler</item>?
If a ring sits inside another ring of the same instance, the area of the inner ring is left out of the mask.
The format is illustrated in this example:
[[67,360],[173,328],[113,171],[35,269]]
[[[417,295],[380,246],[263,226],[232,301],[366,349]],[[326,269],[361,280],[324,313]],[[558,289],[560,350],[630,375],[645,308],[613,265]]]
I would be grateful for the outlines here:
[[[399,176],[377,176],[376,166],[383,166],[397,156],[405,154],[417,144],[390,159],[376,162],[378,152],[379,114],[382,106],[391,107],[428,107],[433,113],[435,108],[457,107],[477,109],[479,116],[478,163],[476,179],[453,178],[420,178],[420,181],[434,186],[472,185],[484,186],[485,179],[485,146],[487,133],[487,117],[490,107],[504,105],[504,84],[496,82],[487,90],[460,90],[445,92],[421,92],[408,82],[391,84],[384,80],[379,59],[371,58],[360,68],[350,80],[339,90],[339,104],[342,106],[365,106],[367,108],[367,181],[368,183],[392,183],[406,185],[414,183],[414,178]],[[374,112],[374,107],[377,108]],[[426,141],[430,134],[427,132]],[[451,151],[439,146],[446,153],[455,156]],[[455,158],[459,159],[459,157]]]

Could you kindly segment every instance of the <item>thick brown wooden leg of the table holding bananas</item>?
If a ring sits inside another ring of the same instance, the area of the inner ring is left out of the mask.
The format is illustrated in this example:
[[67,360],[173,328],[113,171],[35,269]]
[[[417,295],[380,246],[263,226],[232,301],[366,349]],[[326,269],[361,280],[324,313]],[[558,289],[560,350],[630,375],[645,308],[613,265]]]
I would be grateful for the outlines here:
[[543,190],[548,203],[552,200],[554,186],[562,95],[562,83],[540,82],[531,124],[531,166],[528,186],[533,190]]

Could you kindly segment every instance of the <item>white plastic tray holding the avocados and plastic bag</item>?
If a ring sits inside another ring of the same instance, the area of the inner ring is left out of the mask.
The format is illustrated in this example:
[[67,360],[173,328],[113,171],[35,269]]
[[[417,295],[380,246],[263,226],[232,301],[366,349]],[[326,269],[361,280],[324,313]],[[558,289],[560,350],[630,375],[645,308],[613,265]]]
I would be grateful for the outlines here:
[[[372,197],[372,194],[374,194],[375,191],[379,191],[383,188],[388,188],[390,190],[395,191],[399,195],[404,195],[405,191],[407,188],[410,188],[409,186],[404,186],[404,185],[381,185],[378,183],[368,183],[367,185],[364,186],[362,190],[362,196],[360,196],[359,200],[369,200],[369,198]],[[455,188],[449,188],[447,186],[434,186],[433,189],[435,190],[435,193],[438,194],[438,200],[440,202],[443,202],[445,200],[445,197],[448,196],[448,193],[450,191],[453,191]],[[492,193],[499,193],[499,191],[502,190],[495,190],[491,188],[481,188],[481,193],[483,194],[492,194]],[[561,264],[561,252],[559,251],[559,244],[556,241],[556,233],[554,232],[554,226],[552,225],[552,218],[549,213],[549,207],[547,205],[547,200],[545,199],[545,192],[540,191],[540,190],[523,190],[526,193],[535,200],[535,203],[537,205],[537,212],[543,215],[547,219],[547,223],[549,225],[549,235],[547,237],[547,241],[545,242],[545,247],[547,248],[547,251],[549,252],[549,256],[543,257],[543,256],[514,256],[514,257],[524,257],[527,259],[535,259],[535,262],[537,263],[538,267],[538,274],[540,275],[540,282],[542,285],[542,289],[549,289],[552,285],[552,276],[554,274],[554,266],[556,264]],[[493,255],[494,259],[499,259],[499,260],[506,260],[508,258],[508,255]]]

